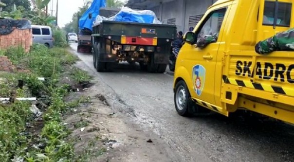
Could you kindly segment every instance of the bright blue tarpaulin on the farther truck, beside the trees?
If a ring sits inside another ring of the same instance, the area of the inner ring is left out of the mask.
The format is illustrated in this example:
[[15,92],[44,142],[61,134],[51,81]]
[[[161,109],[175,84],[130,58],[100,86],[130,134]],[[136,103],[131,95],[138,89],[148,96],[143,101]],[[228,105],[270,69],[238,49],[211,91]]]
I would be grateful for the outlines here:
[[[88,29],[92,31],[92,25],[95,18],[99,15],[99,9],[101,7],[106,7],[106,0],[93,0],[92,5],[84,13],[84,15],[79,19],[80,30]],[[92,18],[89,18],[89,14],[92,14]]]

